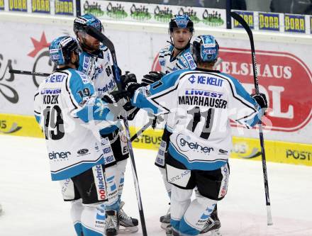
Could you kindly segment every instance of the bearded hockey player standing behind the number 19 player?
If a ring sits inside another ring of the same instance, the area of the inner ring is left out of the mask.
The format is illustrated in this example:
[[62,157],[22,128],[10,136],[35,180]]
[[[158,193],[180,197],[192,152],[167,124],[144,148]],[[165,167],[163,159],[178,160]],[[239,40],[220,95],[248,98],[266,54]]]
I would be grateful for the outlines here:
[[[82,47],[78,70],[91,78],[96,94],[101,98],[106,92],[117,89],[113,77],[111,53],[99,40],[86,33],[86,26],[103,31],[101,21],[90,13],[75,18],[74,33]],[[132,114],[131,118],[134,118],[133,115],[135,116]],[[128,144],[120,120],[108,122],[106,127],[100,130],[100,134],[106,158],[106,181],[108,184],[106,235],[117,235],[119,225],[123,227],[123,230],[136,232],[138,231],[138,220],[128,217],[122,209],[124,203],[121,202],[121,193],[128,158]]]

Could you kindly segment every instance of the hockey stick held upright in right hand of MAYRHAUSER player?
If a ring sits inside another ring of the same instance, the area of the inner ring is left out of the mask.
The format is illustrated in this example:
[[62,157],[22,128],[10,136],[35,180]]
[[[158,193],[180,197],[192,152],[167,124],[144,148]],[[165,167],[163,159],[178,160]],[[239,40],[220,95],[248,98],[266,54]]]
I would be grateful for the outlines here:
[[[257,74],[257,62],[255,55],[255,45],[252,36],[252,31],[250,27],[246,23],[246,21],[238,15],[238,13],[231,12],[230,16],[232,16],[236,21],[238,21],[243,28],[247,31],[250,46],[251,46],[251,55],[252,55],[252,69],[254,74],[254,82],[255,82],[255,91],[256,94],[259,94],[259,82],[258,82],[258,74]],[[265,160],[265,152],[264,152],[264,138],[262,133],[262,124],[259,124],[259,135],[260,135],[260,145],[261,145],[261,154],[262,154],[262,170],[263,170],[263,178],[264,178],[264,190],[265,190],[265,201],[267,203],[267,225],[273,225],[272,214],[271,214],[271,203],[269,201],[269,183],[267,181],[267,162]]]

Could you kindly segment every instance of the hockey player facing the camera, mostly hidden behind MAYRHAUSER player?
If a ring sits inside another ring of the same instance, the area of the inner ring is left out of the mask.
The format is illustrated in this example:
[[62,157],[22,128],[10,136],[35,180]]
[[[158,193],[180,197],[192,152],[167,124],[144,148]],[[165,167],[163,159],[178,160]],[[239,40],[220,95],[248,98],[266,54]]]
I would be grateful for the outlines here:
[[[170,45],[164,47],[159,53],[159,63],[161,67],[161,72],[169,74],[175,72],[179,69],[195,69],[196,62],[194,62],[193,55],[191,54],[191,37],[194,33],[194,23],[191,18],[184,15],[176,15],[169,22],[169,34],[170,34]],[[157,76],[157,74],[156,74]],[[164,133],[162,134],[162,141],[160,142],[160,149],[157,152],[157,157],[155,159],[155,165],[159,167],[162,174],[162,179],[165,184],[165,189],[167,190],[168,196],[171,195],[171,184],[167,182],[167,176],[165,172],[165,152],[169,147],[169,135],[172,133],[172,125],[170,120],[172,115],[169,114],[167,118],[167,124],[164,128]],[[197,193],[197,191],[196,191]],[[160,223],[162,228],[166,228],[170,223],[170,208],[166,215],[160,217]],[[221,227],[220,220],[218,218],[217,207],[214,208],[211,217],[206,223],[206,227],[203,230],[208,232],[215,230],[216,232]],[[220,233],[220,232],[218,232]]]

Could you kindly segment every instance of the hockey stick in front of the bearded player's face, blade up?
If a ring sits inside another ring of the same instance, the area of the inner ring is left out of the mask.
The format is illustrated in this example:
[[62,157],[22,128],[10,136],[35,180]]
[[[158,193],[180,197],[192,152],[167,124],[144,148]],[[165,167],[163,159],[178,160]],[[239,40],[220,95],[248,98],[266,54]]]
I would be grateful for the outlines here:
[[[88,35],[91,35],[92,37],[96,38],[101,43],[106,45],[106,47],[108,47],[108,49],[111,51],[111,57],[113,60],[113,75],[115,77],[118,90],[121,90],[122,89],[121,78],[120,78],[120,75],[118,72],[116,52],[115,52],[115,47],[114,47],[113,43],[104,34],[99,32],[99,30],[96,30],[93,27],[87,26],[86,32]],[[133,172],[133,181],[134,181],[134,185],[135,185],[135,193],[136,193],[137,200],[138,200],[138,208],[139,208],[139,213],[140,213],[142,232],[143,232],[143,236],[147,236],[147,230],[146,230],[145,218],[144,218],[144,212],[143,212],[143,206],[142,206],[142,199],[141,199],[140,187],[139,187],[139,182],[138,182],[138,174],[137,174],[136,167],[135,167],[133,148],[132,148],[132,144],[131,144],[131,140],[130,140],[129,124],[128,124],[128,120],[127,120],[126,116],[123,117],[123,123],[125,124],[126,137],[128,139],[129,155],[130,155],[130,159],[131,159],[131,167],[132,167],[132,172]]]

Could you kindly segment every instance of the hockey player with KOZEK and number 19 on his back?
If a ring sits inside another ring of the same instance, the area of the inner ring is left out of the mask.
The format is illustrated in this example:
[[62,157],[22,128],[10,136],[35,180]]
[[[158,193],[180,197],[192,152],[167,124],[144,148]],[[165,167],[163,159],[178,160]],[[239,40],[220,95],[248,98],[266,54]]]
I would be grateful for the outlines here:
[[89,77],[77,71],[78,48],[69,36],[52,41],[50,60],[57,69],[40,84],[34,112],[45,135],[52,181],[60,181],[64,200],[72,201],[77,235],[102,236],[107,192],[97,125],[102,120],[116,120],[122,106],[111,113],[109,107],[114,106],[109,103],[116,105],[121,96],[96,97]]

